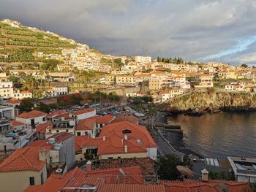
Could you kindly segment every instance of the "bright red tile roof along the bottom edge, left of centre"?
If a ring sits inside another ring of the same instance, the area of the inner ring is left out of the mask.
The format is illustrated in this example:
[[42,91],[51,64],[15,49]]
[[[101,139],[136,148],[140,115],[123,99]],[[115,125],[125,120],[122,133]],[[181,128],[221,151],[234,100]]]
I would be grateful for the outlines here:
[[[75,169],[72,169],[71,171],[63,175],[51,174],[50,177],[48,177],[48,180],[46,180],[46,182],[43,185],[41,185],[40,188],[29,186],[29,188],[26,189],[26,192],[33,191],[33,189],[35,189],[38,192],[67,191],[67,189],[65,188],[79,188],[79,187],[83,187],[84,185],[94,185],[97,187],[97,189],[99,189],[100,185],[115,184],[117,188],[118,185],[123,185],[122,183],[132,183],[132,185],[129,185],[130,187],[128,187],[128,185],[125,187],[125,188],[127,187],[131,188],[131,190],[134,190],[136,188],[143,189],[146,187],[146,185],[138,185],[138,184],[144,183],[140,168],[138,166],[121,167],[121,169],[127,175],[127,177],[122,176],[119,168],[101,169],[101,170],[95,170],[95,171],[93,170],[92,172],[85,172],[79,169],[78,167],[76,167]],[[116,184],[117,180],[120,182],[120,184]],[[136,188],[132,187],[135,185],[138,185],[138,186]],[[159,188],[165,190],[163,185],[154,185],[154,187],[147,187],[147,188],[148,190],[154,189],[154,192],[159,191],[158,190]],[[104,190],[105,188],[102,187],[101,191],[104,191]],[[72,191],[72,190],[70,189],[69,191]],[[113,188],[112,191],[116,191],[116,190]]]

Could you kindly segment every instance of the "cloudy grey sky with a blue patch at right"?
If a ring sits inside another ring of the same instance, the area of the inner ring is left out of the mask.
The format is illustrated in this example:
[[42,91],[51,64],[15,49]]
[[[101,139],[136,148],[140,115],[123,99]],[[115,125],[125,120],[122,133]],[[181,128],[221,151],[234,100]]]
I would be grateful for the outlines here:
[[0,18],[105,54],[256,65],[255,0],[0,0]]

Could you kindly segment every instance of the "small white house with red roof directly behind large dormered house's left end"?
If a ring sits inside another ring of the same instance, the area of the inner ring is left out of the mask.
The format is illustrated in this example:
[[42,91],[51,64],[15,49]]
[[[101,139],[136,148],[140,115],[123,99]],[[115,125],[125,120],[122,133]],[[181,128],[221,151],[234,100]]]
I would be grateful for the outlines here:
[[78,121],[78,126],[75,128],[75,136],[95,137],[97,134],[96,119],[86,118]]

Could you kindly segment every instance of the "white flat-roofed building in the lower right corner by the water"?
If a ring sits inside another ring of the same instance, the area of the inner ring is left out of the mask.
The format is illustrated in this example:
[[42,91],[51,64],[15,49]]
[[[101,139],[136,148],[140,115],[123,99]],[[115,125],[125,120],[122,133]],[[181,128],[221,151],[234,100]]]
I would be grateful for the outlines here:
[[256,158],[227,157],[238,182],[256,183]]

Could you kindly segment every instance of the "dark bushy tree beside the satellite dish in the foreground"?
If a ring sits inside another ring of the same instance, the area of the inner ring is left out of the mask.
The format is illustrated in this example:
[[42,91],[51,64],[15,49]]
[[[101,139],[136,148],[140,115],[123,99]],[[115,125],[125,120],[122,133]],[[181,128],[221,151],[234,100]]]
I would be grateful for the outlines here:
[[157,168],[157,174],[161,180],[178,180],[181,178],[181,173],[176,169],[177,165],[185,166],[184,162],[181,162],[176,156],[166,154],[160,155],[157,158],[155,164]]

